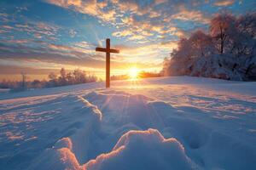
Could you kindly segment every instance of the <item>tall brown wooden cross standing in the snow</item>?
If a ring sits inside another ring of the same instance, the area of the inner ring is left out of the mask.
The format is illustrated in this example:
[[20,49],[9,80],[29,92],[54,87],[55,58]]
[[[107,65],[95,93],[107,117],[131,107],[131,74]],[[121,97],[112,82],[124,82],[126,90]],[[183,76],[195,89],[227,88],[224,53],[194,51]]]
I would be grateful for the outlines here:
[[96,48],[96,51],[106,53],[106,88],[110,87],[110,53],[119,54],[119,49],[110,48],[110,39],[106,39],[106,48]]

